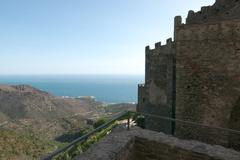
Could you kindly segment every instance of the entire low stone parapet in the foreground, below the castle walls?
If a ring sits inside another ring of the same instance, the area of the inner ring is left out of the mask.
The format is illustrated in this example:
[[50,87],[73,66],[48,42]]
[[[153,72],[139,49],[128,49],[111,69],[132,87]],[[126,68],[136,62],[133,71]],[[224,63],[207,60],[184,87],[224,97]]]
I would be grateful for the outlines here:
[[239,160],[240,153],[163,133],[114,131],[74,160]]

